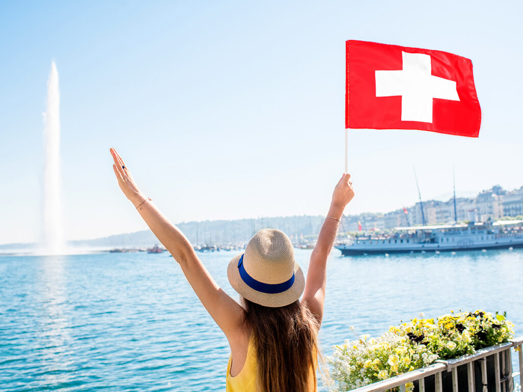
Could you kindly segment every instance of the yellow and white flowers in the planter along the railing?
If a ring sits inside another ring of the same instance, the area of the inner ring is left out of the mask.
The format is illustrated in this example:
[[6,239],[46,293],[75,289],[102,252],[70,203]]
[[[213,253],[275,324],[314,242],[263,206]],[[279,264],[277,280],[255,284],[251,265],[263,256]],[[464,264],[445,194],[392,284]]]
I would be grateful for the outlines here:
[[[347,391],[427,366],[441,359],[473,354],[475,350],[507,342],[514,331],[506,314],[461,312],[426,319],[423,314],[383,333],[345,340],[334,346],[331,377],[337,390]],[[353,327],[351,327],[354,330]],[[407,384],[407,391],[414,385]]]

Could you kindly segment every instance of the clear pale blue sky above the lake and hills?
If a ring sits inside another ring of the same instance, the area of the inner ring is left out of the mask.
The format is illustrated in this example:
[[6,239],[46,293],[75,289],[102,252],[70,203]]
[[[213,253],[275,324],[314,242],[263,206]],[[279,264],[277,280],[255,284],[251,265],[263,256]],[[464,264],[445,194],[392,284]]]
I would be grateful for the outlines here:
[[325,214],[344,170],[345,40],[472,59],[478,139],[349,130],[356,197],[390,211],[523,185],[520,2],[0,2],[0,244],[36,241],[42,112],[61,92],[66,239],[146,229],[115,147],[173,222]]

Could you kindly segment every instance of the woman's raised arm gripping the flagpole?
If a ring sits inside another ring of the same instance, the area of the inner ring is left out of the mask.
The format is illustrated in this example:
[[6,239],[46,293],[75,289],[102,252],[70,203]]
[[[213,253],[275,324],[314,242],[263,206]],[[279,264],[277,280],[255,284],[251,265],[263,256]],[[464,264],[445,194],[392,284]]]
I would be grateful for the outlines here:
[[309,309],[311,309],[311,312],[320,323],[323,319],[323,304],[325,302],[327,258],[334,245],[339,220],[343,215],[345,206],[354,197],[354,190],[349,179],[350,174],[344,174],[334,188],[331,207],[327,213],[329,218],[325,218],[325,222],[323,222],[316,246],[311,254],[309,269],[307,270],[307,280],[302,302],[309,306]]

